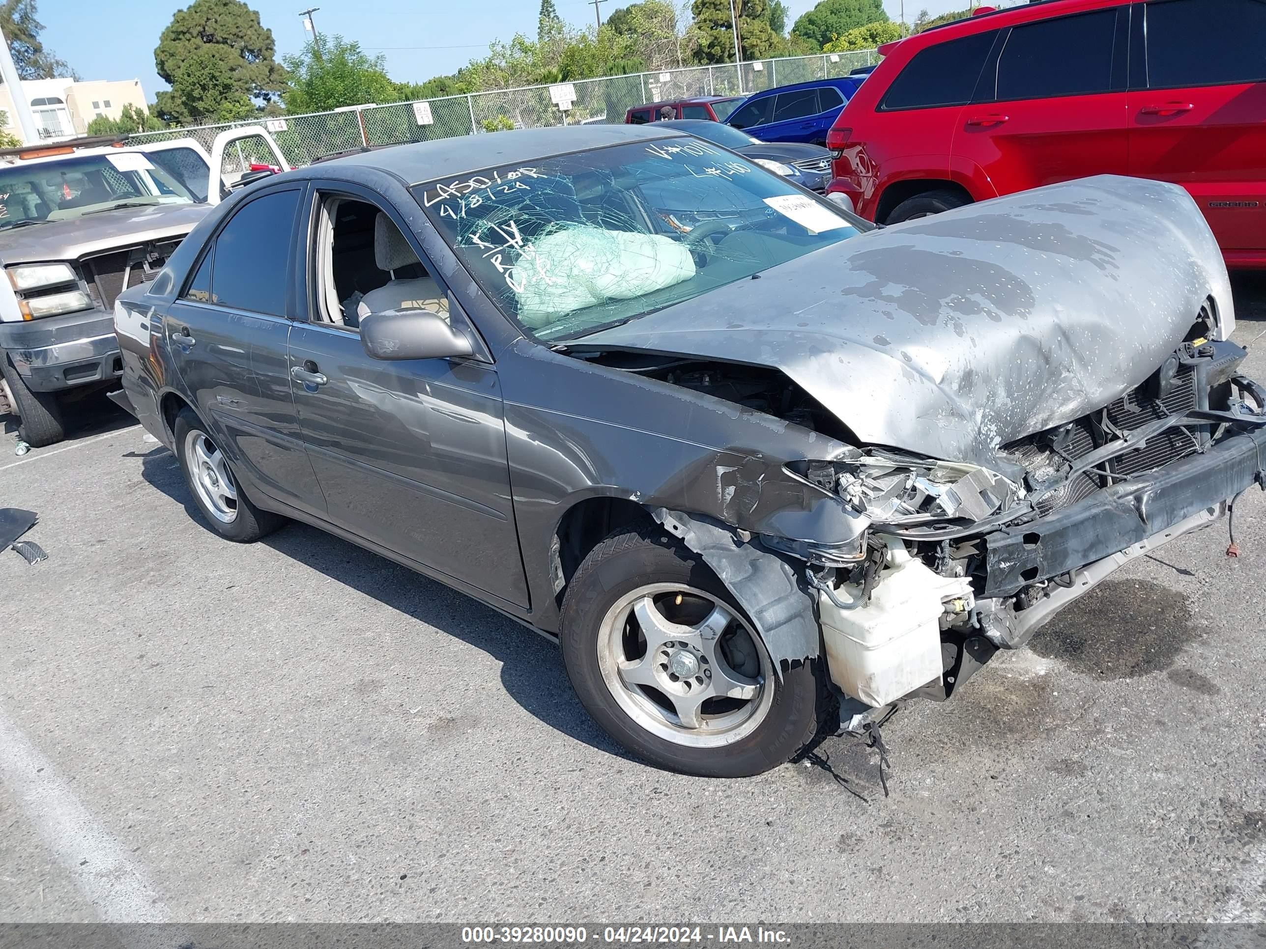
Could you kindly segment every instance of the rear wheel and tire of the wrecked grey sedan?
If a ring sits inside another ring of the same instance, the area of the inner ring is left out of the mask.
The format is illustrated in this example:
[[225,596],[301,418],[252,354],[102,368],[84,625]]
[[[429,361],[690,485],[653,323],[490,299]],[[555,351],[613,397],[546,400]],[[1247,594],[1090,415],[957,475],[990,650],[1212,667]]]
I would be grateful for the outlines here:
[[214,437],[192,409],[180,410],[172,431],[189,493],[211,530],[225,540],[248,544],[285,523],[281,515],[251,502]]

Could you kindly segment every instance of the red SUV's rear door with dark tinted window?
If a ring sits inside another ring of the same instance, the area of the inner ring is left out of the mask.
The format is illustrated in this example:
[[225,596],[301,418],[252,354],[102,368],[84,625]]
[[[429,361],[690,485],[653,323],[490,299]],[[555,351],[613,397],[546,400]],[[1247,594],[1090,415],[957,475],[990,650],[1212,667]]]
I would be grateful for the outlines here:
[[1127,173],[1128,18],[1123,6],[1004,32],[960,111],[955,158],[984,170],[1000,195]]

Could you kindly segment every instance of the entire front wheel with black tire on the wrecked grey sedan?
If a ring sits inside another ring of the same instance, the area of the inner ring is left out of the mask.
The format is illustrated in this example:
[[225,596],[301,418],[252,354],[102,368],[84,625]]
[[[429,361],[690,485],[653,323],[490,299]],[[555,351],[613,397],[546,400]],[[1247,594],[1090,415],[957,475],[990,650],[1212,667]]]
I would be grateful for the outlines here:
[[780,677],[725,586],[658,528],[613,534],[585,558],[563,600],[561,638],[585,710],[661,768],[760,774],[817,729],[813,667]]

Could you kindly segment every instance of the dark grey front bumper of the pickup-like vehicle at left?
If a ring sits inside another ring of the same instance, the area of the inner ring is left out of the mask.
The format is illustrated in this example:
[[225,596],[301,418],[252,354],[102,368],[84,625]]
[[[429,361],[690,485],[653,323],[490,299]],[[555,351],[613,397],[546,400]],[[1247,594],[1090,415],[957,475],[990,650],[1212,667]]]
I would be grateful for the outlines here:
[[123,372],[114,316],[103,310],[0,323],[0,348],[37,392],[113,380]]

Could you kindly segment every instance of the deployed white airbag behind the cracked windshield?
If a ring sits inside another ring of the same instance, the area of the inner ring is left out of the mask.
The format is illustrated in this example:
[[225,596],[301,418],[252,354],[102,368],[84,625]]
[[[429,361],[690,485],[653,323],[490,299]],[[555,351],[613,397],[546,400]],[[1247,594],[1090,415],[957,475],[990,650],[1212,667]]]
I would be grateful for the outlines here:
[[510,286],[519,320],[539,328],[608,300],[630,300],[695,276],[690,251],[658,234],[570,228],[524,249]]

